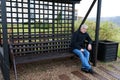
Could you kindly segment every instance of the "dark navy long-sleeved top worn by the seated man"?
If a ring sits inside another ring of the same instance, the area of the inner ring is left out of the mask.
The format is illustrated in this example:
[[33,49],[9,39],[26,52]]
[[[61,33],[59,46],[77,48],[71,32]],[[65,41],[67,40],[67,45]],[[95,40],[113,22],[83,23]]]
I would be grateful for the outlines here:
[[85,48],[85,42],[88,42],[88,44],[92,44],[92,40],[88,33],[82,33],[80,30],[77,30],[72,35],[71,40],[71,47],[72,49],[84,49]]

